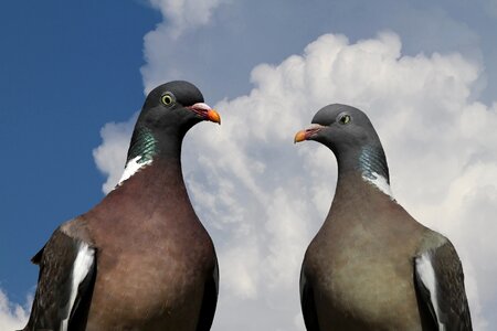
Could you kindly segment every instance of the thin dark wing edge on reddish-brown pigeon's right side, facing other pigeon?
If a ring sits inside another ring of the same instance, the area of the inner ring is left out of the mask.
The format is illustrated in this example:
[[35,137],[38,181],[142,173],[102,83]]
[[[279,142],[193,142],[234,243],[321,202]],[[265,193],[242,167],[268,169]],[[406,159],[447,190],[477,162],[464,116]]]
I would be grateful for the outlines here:
[[219,266],[218,258],[215,258],[214,270],[212,276],[205,281],[203,290],[202,306],[200,308],[199,323],[197,324],[197,331],[211,330],[212,321],[214,319],[215,306],[218,305],[219,293]]

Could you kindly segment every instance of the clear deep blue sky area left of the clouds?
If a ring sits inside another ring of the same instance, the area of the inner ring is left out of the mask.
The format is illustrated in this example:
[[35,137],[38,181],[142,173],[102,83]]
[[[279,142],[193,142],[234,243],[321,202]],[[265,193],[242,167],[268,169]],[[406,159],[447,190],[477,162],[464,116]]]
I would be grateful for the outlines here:
[[142,36],[158,21],[133,1],[4,4],[0,286],[13,299],[34,285],[30,255],[102,199],[92,149],[103,124],[141,107]]

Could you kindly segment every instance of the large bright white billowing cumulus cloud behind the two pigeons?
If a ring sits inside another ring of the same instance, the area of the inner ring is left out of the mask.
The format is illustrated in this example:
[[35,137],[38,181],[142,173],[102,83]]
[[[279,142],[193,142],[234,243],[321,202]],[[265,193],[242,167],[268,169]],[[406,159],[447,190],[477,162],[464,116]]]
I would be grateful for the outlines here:
[[[329,209],[337,168],[329,150],[294,146],[293,136],[330,103],[369,114],[396,200],[459,252],[475,330],[497,322],[497,223],[489,218],[497,213],[497,104],[472,97],[480,75],[478,63],[457,53],[403,55],[391,32],[355,43],[325,34],[302,54],[257,65],[247,95],[220,100],[223,125],[192,129],[182,156],[220,259],[213,329],[304,329],[299,268]],[[123,127],[125,135],[103,134],[95,153],[109,174],[106,191],[123,170],[116,156],[131,126]]]

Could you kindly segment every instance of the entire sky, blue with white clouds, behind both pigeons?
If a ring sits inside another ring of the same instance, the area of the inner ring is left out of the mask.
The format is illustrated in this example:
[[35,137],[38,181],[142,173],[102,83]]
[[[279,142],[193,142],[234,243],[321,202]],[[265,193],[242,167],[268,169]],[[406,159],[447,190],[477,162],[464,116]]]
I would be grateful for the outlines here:
[[475,329],[497,323],[497,1],[8,1],[0,24],[0,325],[21,323],[31,256],[120,175],[144,90],[178,78],[223,118],[183,148],[220,257],[214,330],[302,330],[336,166],[290,142],[335,102],[368,111],[395,197],[455,243]]

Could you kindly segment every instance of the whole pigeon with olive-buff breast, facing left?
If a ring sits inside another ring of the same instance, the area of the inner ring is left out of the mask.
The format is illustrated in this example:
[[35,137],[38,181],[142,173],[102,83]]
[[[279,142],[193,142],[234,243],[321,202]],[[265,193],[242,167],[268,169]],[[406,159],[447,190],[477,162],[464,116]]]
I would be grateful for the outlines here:
[[368,116],[328,105],[295,135],[306,140],[328,147],[338,163],[330,210],[302,264],[307,330],[472,330],[457,253],[393,197]]

